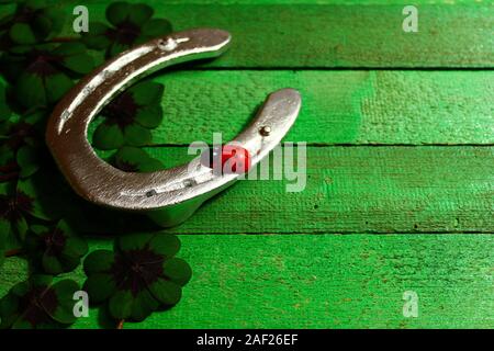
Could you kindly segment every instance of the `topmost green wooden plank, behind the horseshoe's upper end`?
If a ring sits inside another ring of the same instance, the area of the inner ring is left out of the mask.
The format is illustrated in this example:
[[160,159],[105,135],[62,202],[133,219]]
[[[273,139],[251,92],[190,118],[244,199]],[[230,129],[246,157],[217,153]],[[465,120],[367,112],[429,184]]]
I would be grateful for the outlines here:
[[[108,1],[88,4],[92,19]],[[493,67],[492,4],[419,5],[418,33],[405,33],[403,4],[164,4],[176,30],[229,31],[231,50],[209,67]],[[71,9],[70,9],[71,10]]]

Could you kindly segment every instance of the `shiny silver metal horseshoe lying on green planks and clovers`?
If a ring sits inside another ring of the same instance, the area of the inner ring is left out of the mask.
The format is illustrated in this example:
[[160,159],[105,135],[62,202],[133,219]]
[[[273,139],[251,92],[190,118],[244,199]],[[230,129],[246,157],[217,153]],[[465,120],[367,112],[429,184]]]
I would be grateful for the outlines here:
[[[124,52],[88,75],[57,104],[46,141],[71,188],[98,205],[144,211],[164,227],[178,225],[207,199],[231,185],[237,173],[215,173],[201,157],[190,163],[150,173],[121,171],[97,156],[88,141],[91,120],[119,92],[164,67],[223,54],[227,32],[198,29],[172,33]],[[251,167],[266,157],[293,125],[301,107],[296,90],[268,95],[251,124],[235,141],[248,150]],[[191,171],[193,170],[193,171]]]

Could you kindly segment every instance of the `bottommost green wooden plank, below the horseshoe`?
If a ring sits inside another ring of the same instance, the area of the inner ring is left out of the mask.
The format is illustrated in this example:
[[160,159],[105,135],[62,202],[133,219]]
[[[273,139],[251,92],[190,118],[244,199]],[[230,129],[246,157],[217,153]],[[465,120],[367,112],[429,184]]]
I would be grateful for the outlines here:
[[[193,269],[182,301],[125,328],[494,327],[493,236],[209,235],[181,240],[179,257]],[[25,276],[19,261],[5,262],[1,293]],[[85,280],[80,269],[69,276]],[[403,316],[405,291],[418,295],[417,318]],[[75,327],[99,327],[98,310]]]

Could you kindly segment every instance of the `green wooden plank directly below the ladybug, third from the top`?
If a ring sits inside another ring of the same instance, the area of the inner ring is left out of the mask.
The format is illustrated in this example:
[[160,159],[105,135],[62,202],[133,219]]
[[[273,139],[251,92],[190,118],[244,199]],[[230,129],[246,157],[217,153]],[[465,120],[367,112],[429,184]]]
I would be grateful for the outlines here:
[[[192,157],[149,152],[167,168]],[[494,147],[308,147],[302,192],[287,192],[294,181],[240,181],[168,230],[494,233]]]

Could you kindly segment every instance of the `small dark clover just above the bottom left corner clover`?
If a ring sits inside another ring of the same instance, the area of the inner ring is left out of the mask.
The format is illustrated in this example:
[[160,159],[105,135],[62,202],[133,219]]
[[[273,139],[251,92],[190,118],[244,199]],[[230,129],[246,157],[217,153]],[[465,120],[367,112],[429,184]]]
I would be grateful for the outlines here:
[[26,237],[30,257],[36,258],[48,274],[72,271],[88,252],[88,244],[65,220],[54,227],[33,225],[30,231],[33,234]]

